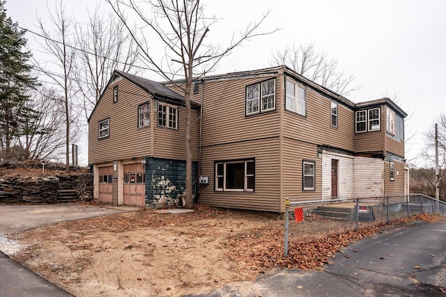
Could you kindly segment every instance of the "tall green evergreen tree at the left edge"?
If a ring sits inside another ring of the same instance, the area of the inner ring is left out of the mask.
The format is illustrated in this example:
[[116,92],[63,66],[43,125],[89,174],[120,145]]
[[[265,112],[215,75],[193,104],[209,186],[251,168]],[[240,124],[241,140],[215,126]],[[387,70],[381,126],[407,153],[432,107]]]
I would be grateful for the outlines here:
[[31,75],[31,53],[24,50],[25,31],[6,15],[4,4],[0,0],[0,148],[8,160],[15,140],[26,134],[24,127],[34,116],[28,91],[37,81]]

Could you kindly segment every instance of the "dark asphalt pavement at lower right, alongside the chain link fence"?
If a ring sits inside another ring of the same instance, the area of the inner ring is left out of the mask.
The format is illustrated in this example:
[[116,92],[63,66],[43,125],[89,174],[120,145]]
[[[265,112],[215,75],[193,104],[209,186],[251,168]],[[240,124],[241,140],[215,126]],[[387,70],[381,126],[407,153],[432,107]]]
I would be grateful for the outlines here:
[[445,265],[446,222],[416,222],[349,245],[321,271],[284,270],[197,296],[445,297]]

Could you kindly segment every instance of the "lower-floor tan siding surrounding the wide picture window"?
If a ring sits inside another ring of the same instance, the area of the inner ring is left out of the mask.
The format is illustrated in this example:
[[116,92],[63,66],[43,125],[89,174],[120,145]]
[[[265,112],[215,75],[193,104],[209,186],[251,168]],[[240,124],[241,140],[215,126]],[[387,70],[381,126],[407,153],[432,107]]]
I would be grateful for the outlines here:
[[[214,162],[255,158],[255,192],[216,192]],[[279,212],[279,138],[203,148],[201,172],[209,184],[199,202],[209,206]]]

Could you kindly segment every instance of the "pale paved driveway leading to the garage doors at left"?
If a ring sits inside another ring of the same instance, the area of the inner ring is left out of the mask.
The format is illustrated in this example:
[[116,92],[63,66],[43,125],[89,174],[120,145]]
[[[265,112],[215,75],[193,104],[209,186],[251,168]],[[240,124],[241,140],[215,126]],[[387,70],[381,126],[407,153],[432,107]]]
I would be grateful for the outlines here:
[[141,208],[131,206],[94,206],[85,204],[0,205],[0,234],[17,234],[22,231],[56,224],[111,215]]

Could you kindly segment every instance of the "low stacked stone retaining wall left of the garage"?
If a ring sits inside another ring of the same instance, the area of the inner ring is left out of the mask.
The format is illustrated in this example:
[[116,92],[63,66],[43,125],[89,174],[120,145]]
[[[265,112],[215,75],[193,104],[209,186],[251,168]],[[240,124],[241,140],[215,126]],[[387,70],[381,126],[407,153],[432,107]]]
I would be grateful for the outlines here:
[[93,200],[93,175],[0,176],[0,203],[61,203]]

